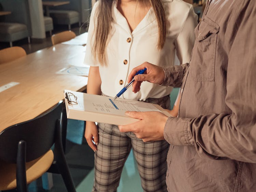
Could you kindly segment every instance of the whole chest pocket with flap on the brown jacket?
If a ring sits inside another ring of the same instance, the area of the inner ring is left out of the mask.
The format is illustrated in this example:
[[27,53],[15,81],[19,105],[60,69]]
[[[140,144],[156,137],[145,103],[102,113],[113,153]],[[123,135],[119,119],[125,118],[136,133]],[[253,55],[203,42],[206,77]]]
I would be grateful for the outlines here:
[[195,81],[214,82],[216,42],[219,26],[204,17],[195,29],[190,71]]

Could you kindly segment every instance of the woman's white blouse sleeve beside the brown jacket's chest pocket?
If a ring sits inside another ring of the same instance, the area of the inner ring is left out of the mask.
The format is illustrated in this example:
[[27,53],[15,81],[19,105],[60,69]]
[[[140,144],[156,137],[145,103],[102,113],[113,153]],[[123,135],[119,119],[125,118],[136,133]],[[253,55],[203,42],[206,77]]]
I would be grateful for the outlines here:
[[193,6],[190,5],[189,11],[183,22],[181,31],[175,41],[175,49],[180,64],[189,63],[191,52],[195,43],[194,30],[197,26],[197,15]]

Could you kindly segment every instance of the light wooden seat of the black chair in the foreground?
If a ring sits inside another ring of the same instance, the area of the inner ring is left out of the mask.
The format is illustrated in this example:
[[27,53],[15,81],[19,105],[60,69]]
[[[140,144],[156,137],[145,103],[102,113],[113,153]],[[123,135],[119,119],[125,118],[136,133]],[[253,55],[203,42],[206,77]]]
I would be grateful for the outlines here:
[[[51,167],[54,159],[50,149],[43,156],[26,163],[27,183],[41,177]],[[16,188],[16,164],[0,161],[0,190]]]

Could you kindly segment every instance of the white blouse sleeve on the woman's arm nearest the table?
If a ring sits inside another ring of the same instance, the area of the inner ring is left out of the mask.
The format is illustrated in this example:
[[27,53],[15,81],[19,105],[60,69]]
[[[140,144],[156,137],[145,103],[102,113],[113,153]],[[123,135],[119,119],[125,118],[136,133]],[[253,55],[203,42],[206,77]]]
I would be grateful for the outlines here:
[[88,29],[88,40],[86,44],[86,52],[85,52],[85,58],[84,58],[85,64],[94,66],[94,67],[99,66],[99,62],[97,61],[97,59],[93,57],[93,54],[92,54],[92,46],[94,44],[94,39],[95,39],[94,37],[95,22],[96,22],[95,12],[96,12],[96,9],[98,9],[98,4],[99,2],[97,1],[93,6],[93,10],[91,11],[90,23],[89,23],[89,29]]

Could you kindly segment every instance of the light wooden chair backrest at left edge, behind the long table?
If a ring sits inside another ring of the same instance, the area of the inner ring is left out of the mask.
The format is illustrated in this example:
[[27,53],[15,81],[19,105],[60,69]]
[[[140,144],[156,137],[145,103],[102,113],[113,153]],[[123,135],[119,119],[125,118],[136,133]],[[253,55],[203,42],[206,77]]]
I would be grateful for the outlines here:
[[0,64],[7,63],[26,56],[26,51],[22,47],[8,47],[0,50]]

